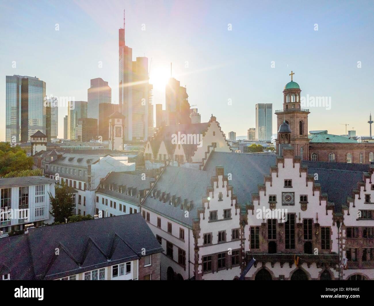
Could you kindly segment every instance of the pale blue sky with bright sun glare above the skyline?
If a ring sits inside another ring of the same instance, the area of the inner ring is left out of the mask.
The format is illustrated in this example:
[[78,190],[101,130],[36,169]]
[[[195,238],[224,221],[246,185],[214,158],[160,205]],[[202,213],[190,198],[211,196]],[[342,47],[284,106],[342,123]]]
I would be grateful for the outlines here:
[[[214,114],[226,135],[246,135],[255,127],[255,104],[282,109],[292,70],[301,97],[331,101],[330,107],[305,107],[309,131],[341,135],[348,123],[357,135],[369,134],[373,1],[0,0],[0,141],[7,75],[37,76],[48,96],[76,101],[87,101],[90,79],[101,77],[118,103],[123,9],[133,60],[145,55],[149,65],[152,59],[154,105],[165,108],[172,62],[172,76],[186,86],[202,122]],[[66,114],[60,107],[59,138]]]

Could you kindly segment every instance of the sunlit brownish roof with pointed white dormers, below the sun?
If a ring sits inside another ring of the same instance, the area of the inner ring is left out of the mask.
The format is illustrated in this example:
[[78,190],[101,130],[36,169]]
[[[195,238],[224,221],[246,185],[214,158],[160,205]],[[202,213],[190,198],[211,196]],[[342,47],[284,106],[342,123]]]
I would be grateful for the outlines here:
[[[165,143],[168,154],[174,154],[177,145],[171,143],[173,134],[178,135],[178,132],[181,132],[181,134],[204,134],[204,132],[208,130],[209,124],[210,122],[162,126],[156,136],[152,137],[150,140],[153,154],[157,155],[162,141]],[[197,149],[196,144],[182,144],[182,146],[187,159],[191,157]]]

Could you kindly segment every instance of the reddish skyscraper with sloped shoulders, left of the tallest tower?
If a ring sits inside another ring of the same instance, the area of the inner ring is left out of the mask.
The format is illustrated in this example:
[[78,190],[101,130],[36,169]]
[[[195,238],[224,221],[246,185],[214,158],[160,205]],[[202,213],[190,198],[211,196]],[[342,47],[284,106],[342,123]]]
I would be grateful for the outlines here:
[[91,87],[87,90],[87,117],[99,120],[99,104],[111,103],[112,89],[101,77],[91,79]]

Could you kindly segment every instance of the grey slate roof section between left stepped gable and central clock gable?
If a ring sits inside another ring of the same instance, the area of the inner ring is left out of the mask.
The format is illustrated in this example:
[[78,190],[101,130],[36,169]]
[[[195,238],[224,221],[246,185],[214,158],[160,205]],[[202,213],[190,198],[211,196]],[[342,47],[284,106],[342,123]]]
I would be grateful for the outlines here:
[[264,183],[264,175],[270,174],[270,166],[276,165],[276,156],[266,153],[212,152],[203,168],[215,175],[215,166],[223,166],[225,175],[231,173],[231,185],[237,202],[252,202],[252,193],[258,193],[258,184]]

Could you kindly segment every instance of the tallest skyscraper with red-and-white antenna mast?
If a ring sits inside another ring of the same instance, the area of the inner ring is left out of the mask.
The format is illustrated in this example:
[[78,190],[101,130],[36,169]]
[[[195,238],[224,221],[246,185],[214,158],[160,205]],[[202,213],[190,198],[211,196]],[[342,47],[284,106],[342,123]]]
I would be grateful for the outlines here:
[[125,140],[147,140],[153,135],[153,86],[148,82],[148,58],[132,61],[125,45],[125,11],[119,29],[119,107],[125,116]]

